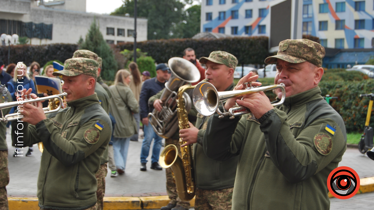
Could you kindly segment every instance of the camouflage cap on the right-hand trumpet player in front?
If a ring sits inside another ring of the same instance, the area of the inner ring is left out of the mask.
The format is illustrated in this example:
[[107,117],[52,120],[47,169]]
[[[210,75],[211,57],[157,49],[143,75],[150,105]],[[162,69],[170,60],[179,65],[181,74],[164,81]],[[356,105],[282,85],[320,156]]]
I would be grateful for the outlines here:
[[309,39],[287,39],[279,43],[277,55],[265,59],[266,64],[274,64],[277,59],[293,64],[308,61],[317,67],[322,67],[325,48],[321,44]]

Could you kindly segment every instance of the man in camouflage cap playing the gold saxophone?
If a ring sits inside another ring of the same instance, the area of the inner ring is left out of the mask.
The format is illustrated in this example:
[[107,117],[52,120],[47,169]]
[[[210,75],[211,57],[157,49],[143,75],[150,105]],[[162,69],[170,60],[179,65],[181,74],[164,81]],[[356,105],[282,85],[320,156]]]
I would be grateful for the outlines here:
[[[237,65],[235,56],[224,51],[214,51],[209,58],[202,57],[199,61],[205,64],[205,78],[209,79],[208,82],[213,84],[217,91],[233,90]],[[193,165],[197,185],[194,207],[196,210],[230,210],[239,157],[217,161],[205,155],[203,136],[209,117],[197,114],[196,127],[190,123],[190,128],[179,131],[179,137],[187,142],[182,146],[194,143]]]

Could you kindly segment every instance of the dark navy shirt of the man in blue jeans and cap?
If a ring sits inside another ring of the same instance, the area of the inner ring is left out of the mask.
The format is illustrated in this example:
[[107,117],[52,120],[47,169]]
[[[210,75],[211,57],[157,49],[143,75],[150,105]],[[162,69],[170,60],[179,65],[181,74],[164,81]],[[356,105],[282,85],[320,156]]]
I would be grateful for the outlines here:
[[151,98],[151,96],[156,95],[156,93],[158,93],[164,88],[165,88],[165,82],[160,83],[157,80],[157,77],[150,78],[144,81],[143,86],[141,87],[140,99],[139,99],[141,118],[147,117],[148,113],[150,112],[149,107],[148,107],[148,99]]

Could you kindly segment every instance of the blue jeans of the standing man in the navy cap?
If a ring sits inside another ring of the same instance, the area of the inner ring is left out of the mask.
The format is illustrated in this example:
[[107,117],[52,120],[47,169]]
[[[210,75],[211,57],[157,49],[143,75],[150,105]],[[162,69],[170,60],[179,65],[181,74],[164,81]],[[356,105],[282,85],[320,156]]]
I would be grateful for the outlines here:
[[151,146],[151,142],[152,142],[152,139],[154,138],[154,142],[153,142],[153,150],[152,150],[152,157],[151,157],[151,161],[152,163],[154,162],[158,162],[159,161],[159,157],[160,157],[160,149],[161,149],[161,140],[162,140],[162,137],[158,136],[151,124],[148,124],[148,126],[144,125],[144,139],[143,139],[143,143],[141,145],[141,154],[140,154],[140,162],[141,163],[147,163],[147,157],[148,157],[148,154],[149,154],[149,148]]

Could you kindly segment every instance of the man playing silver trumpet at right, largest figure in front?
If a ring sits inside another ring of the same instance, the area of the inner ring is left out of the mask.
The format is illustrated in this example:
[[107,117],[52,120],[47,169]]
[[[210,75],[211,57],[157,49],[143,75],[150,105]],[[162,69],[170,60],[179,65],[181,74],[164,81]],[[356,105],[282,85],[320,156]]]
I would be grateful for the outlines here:
[[[208,122],[203,148],[215,160],[239,156],[233,192],[234,210],[329,209],[327,178],[346,150],[343,119],[321,96],[325,49],[307,39],[284,40],[275,56],[275,84],[285,84],[286,95],[276,89],[274,108],[263,92],[227,100],[251,114],[230,119],[214,114]],[[254,82],[257,75],[239,80],[234,88]],[[221,109],[223,111],[223,109]]]

